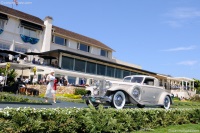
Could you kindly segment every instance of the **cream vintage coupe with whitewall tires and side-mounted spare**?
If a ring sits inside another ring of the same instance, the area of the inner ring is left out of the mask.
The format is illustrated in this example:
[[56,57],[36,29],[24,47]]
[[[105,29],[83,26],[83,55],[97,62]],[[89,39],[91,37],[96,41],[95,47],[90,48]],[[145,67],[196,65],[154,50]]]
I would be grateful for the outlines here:
[[171,94],[159,86],[158,79],[152,76],[126,76],[123,82],[100,80],[86,90],[87,95],[82,98],[87,105],[95,107],[99,104],[110,104],[122,109],[125,104],[135,104],[139,108],[157,105],[169,109],[172,104]]

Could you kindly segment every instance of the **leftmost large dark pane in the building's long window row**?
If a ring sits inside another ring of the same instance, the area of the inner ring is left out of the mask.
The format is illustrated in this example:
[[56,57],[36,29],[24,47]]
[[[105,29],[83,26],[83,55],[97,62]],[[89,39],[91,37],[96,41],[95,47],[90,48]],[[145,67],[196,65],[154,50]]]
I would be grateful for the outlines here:
[[64,68],[64,69],[73,70],[73,68],[74,68],[74,58],[63,56],[61,67]]

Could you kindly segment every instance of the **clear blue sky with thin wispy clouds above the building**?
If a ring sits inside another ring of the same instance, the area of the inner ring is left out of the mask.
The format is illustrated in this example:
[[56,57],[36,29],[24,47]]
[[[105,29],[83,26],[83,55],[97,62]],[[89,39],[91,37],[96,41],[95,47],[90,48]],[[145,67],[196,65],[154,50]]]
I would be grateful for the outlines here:
[[[1,4],[7,1],[12,0]],[[51,16],[54,25],[113,48],[119,60],[152,72],[200,79],[199,0],[18,1],[14,9],[41,19]]]

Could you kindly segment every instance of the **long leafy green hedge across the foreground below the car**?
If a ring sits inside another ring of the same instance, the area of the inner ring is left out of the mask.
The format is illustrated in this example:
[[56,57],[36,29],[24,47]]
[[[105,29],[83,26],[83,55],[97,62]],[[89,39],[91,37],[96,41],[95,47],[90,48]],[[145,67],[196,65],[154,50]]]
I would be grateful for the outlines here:
[[200,108],[188,109],[98,109],[6,108],[0,110],[0,132],[97,133],[133,132],[169,125],[200,122]]

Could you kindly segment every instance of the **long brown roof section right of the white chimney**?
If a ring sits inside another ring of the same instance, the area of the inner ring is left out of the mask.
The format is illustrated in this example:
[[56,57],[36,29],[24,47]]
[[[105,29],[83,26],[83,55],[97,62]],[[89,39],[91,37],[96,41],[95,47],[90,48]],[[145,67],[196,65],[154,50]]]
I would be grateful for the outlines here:
[[105,50],[111,50],[111,51],[113,51],[113,49],[111,49],[110,47],[106,46],[102,42],[97,41],[95,39],[92,39],[90,37],[86,37],[86,36],[77,34],[75,32],[59,28],[57,26],[53,26],[53,29],[54,29],[55,33],[61,34],[63,36],[69,37],[71,39],[75,39],[75,40],[78,40],[78,41],[83,42],[83,43],[94,45],[96,47],[100,47],[100,48],[103,48]]

